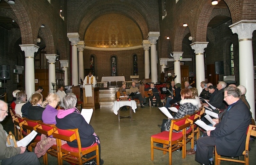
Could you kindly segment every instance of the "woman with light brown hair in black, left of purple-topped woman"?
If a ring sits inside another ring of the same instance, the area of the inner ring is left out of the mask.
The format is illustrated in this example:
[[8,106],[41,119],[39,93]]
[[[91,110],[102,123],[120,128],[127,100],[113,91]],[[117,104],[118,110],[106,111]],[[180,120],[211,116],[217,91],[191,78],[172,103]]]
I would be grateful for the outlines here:
[[44,108],[42,107],[43,95],[41,93],[34,93],[31,97],[31,105],[28,107],[28,119],[42,120],[42,113]]

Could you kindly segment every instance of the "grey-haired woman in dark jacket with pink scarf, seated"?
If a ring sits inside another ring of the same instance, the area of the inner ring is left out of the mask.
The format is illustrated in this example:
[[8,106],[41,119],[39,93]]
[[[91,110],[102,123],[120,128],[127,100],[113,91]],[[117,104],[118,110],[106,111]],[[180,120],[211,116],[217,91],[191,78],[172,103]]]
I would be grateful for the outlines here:
[[[100,157],[100,139],[94,132],[92,125],[88,124],[84,117],[80,114],[76,108],[76,95],[74,93],[67,93],[63,98],[63,104],[65,110],[58,110],[56,116],[56,127],[60,129],[74,129],[78,128],[81,147],[89,147],[94,143],[98,143],[99,157]],[[77,141],[68,142],[71,147],[77,147]],[[90,154],[90,155],[89,155]],[[88,156],[95,155],[95,152],[89,153]],[[103,164],[103,160],[100,159],[100,165]]]

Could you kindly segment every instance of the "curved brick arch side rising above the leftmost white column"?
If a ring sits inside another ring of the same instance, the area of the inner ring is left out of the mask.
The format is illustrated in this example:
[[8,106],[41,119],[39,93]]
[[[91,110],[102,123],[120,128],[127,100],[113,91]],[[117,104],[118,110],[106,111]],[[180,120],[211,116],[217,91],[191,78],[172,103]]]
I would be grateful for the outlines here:
[[10,5],[17,17],[17,24],[20,26],[22,44],[35,44],[31,19],[28,16],[26,3],[15,0],[15,5]]

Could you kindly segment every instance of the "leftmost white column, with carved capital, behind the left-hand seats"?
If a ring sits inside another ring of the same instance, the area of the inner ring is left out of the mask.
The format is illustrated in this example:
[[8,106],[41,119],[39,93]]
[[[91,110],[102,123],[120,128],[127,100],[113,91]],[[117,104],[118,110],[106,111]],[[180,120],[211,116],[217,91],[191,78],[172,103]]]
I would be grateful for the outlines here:
[[27,98],[29,98],[35,91],[34,54],[38,51],[39,46],[34,44],[19,46],[25,52],[25,91]]

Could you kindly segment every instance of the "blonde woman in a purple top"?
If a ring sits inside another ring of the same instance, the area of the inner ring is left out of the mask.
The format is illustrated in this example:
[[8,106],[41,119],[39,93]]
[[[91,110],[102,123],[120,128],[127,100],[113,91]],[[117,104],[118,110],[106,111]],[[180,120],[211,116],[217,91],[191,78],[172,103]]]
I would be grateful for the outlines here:
[[55,93],[50,93],[46,100],[43,102],[42,106],[45,107],[42,114],[42,121],[46,124],[56,124],[56,115],[58,110],[55,109],[60,102],[60,97]]

